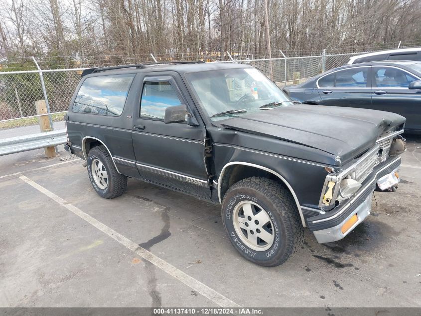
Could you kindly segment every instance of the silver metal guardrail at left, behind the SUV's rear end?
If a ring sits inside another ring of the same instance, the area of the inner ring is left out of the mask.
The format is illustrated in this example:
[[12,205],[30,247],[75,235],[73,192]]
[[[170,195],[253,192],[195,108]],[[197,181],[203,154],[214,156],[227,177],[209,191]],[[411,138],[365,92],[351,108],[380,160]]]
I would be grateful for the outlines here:
[[43,132],[0,139],[0,156],[33,149],[53,147],[67,142],[66,130]]

